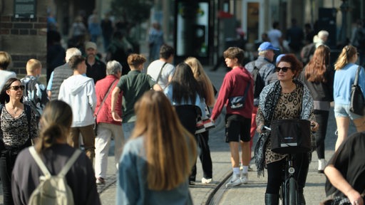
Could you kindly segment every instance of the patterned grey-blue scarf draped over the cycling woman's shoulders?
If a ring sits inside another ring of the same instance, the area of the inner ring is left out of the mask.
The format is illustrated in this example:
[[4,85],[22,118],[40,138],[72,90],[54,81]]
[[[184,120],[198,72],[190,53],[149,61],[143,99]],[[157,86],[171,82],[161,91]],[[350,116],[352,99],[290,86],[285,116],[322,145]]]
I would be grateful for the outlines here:
[[[301,119],[309,119],[309,116],[313,112],[313,99],[312,95],[309,93],[309,89],[306,85],[304,85],[301,81],[294,78],[293,82],[303,88],[303,98],[302,98],[302,112],[300,114]],[[280,85],[280,81],[277,80],[275,83],[271,83],[267,85],[259,96],[259,108],[264,115],[264,125],[269,127],[272,122],[272,118],[274,116],[274,110],[277,106],[277,101],[280,98],[282,92],[282,86]],[[267,139],[270,134],[262,133],[259,135],[259,140],[257,141],[255,147],[255,163],[257,167],[257,176],[264,176],[264,167],[265,167],[265,150]]]

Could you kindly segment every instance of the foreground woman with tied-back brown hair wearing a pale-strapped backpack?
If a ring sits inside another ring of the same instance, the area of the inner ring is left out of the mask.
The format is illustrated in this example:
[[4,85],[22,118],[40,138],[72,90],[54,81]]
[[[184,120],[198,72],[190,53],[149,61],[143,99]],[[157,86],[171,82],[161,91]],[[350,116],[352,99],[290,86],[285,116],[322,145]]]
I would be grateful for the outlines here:
[[[39,140],[34,148],[52,176],[61,172],[74,152],[77,152],[77,149],[67,144],[71,124],[70,105],[61,100],[47,103],[40,120]],[[29,150],[23,149],[14,165],[11,180],[14,204],[29,204],[31,194],[44,175]],[[73,192],[74,204],[101,204],[93,166],[83,152],[68,170],[66,182]]]

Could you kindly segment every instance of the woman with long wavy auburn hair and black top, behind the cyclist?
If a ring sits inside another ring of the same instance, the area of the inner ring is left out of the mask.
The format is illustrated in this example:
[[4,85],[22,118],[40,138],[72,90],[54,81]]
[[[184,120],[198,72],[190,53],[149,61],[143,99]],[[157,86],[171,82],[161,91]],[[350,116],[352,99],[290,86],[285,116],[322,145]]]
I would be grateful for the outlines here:
[[330,103],[334,99],[334,70],[329,65],[330,53],[331,50],[328,46],[318,46],[316,51],[314,51],[313,58],[299,76],[299,79],[307,85],[312,94],[314,102],[313,112],[319,124],[319,130],[315,134],[319,173],[323,173],[324,167],[327,164],[324,159],[324,139],[327,134]]

